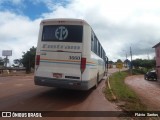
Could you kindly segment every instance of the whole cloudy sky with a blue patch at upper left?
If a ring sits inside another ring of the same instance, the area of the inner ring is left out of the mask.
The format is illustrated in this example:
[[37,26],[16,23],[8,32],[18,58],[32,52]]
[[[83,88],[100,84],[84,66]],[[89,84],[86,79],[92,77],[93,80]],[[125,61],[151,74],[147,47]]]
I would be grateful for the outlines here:
[[95,31],[110,60],[153,58],[160,42],[159,0],[0,0],[0,57],[11,60],[37,45],[39,23],[49,18],[80,18]]

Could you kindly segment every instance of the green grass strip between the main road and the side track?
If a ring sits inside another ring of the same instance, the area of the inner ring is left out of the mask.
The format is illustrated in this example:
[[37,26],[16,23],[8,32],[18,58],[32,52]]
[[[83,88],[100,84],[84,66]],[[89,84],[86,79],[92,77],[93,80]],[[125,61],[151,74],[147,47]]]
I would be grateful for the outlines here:
[[123,103],[119,106],[125,111],[146,111],[144,106],[136,93],[129,88],[124,79],[129,75],[128,72],[116,72],[109,79],[111,90],[107,87],[105,90],[106,98],[110,101],[114,101],[111,91],[117,97],[116,102]]

